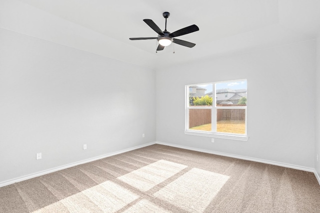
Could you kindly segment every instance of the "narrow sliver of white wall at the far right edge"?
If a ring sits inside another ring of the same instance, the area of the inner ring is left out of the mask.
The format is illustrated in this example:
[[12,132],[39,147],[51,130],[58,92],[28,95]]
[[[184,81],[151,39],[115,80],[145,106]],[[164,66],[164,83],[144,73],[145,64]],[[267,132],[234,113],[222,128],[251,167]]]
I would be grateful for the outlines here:
[[[316,108],[315,108],[315,158],[314,168],[320,177],[320,36],[316,39]],[[318,155],[318,161],[316,160]],[[319,180],[318,180],[319,181]]]

